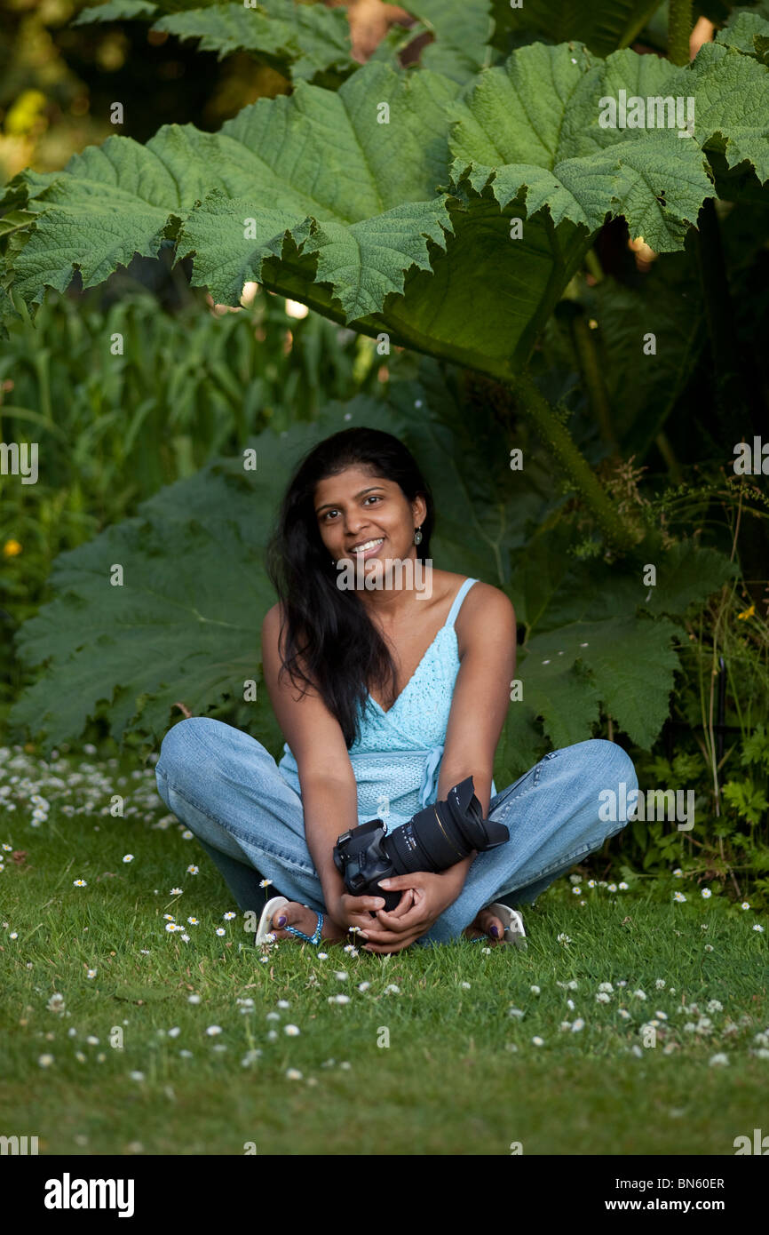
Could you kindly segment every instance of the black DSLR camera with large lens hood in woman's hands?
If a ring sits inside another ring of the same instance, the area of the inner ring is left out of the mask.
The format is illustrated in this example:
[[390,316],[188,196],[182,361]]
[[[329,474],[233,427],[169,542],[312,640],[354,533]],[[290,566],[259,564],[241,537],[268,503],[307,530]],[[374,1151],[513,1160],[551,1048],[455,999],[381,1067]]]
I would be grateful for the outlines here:
[[447,871],[473,850],[496,848],[510,840],[504,824],[484,819],[473,792],[473,777],[449,789],[446,802],[417,810],[406,824],[385,834],[381,819],[352,827],[337,840],[333,861],[353,897],[384,897],[385,910],[400,903],[380,879],[414,871]]

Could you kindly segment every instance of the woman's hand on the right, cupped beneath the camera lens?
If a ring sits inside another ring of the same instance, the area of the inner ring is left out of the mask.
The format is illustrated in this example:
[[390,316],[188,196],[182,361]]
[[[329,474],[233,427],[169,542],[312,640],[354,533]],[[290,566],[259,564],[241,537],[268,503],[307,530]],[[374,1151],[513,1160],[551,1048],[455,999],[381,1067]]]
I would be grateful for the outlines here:
[[400,952],[409,947],[427,934],[436,919],[454,903],[462,890],[462,883],[451,869],[441,874],[428,871],[396,874],[390,879],[383,879],[380,887],[386,892],[402,892],[404,895],[391,913],[384,909],[376,910],[375,918],[364,927],[368,936],[368,942],[364,945],[367,952]]

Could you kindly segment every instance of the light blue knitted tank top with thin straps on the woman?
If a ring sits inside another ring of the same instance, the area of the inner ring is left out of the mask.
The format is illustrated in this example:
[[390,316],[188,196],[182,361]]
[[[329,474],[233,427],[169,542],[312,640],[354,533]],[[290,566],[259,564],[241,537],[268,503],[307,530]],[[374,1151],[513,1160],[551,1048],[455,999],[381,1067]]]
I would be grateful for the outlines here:
[[[359,710],[359,735],[349,747],[358,785],[358,823],[383,819],[388,831],[436,802],[446,729],[459,672],[454,622],[476,579],[465,579],[414,674],[389,711],[370,694]],[[300,793],[296,761],[288,743],[278,767]],[[496,794],[491,784],[491,797]]]

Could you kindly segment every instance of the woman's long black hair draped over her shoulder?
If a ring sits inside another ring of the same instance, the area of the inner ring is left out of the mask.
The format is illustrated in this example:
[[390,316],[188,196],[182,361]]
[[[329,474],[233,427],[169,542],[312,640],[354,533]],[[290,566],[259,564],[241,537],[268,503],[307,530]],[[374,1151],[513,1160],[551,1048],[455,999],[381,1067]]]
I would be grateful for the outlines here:
[[337,587],[337,571],[321,540],[315,490],[348,467],[365,467],[400,485],[409,501],[421,494],[427,514],[417,557],[430,556],[434,508],[411,451],[378,429],[344,429],[318,442],[300,462],[281,503],[267,568],[283,605],[283,672],[304,692],[314,687],[337,718],[347,746],[358,736],[359,708],[374,687],[393,690],[395,666],[354,589]]

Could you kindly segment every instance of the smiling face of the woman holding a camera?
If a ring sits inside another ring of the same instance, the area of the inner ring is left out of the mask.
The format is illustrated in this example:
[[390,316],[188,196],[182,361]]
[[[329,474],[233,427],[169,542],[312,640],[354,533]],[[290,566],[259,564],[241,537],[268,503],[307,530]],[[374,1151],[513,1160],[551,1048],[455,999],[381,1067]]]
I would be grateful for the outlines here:
[[362,464],[325,477],[315,490],[315,514],[328,553],[352,561],[365,574],[385,563],[416,557],[415,529],[427,513],[425,499],[409,501],[394,480]]

